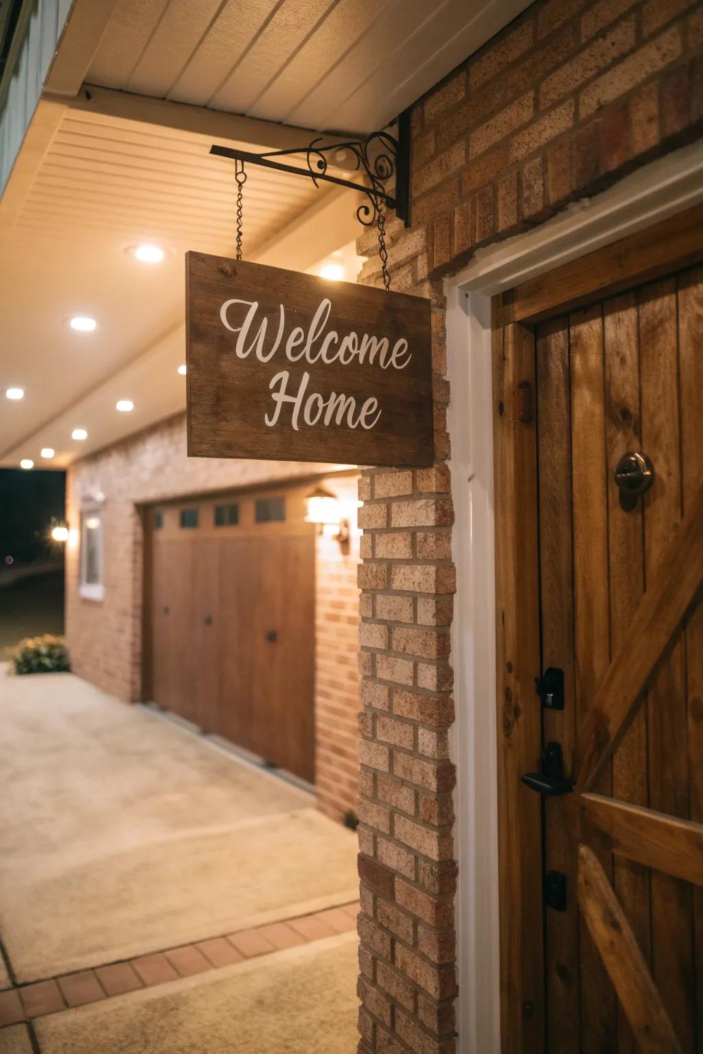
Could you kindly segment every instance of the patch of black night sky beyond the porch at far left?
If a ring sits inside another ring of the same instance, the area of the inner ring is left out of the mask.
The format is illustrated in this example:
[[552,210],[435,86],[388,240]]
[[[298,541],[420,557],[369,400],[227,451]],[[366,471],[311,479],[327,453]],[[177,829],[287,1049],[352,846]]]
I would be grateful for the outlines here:
[[[0,469],[0,567],[57,554],[52,523],[64,516],[65,472]],[[62,547],[61,547],[62,548]]]

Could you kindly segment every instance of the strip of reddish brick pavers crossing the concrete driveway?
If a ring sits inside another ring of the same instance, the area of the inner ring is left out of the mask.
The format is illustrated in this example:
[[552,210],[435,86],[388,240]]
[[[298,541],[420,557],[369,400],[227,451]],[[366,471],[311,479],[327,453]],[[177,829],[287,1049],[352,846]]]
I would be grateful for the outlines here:
[[0,992],[0,1029],[356,929],[358,901]]

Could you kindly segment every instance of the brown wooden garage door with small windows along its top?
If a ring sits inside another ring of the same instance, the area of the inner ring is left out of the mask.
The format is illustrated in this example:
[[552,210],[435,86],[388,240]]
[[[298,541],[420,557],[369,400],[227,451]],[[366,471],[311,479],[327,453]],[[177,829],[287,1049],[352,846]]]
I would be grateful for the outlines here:
[[[149,510],[154,702],[312,781],[314,538],[297,491]],[[216,524],[236,507],[237,522]],[[266,509],[263,509],[266,513]],[[193,525],[196,522],[196,525]]]

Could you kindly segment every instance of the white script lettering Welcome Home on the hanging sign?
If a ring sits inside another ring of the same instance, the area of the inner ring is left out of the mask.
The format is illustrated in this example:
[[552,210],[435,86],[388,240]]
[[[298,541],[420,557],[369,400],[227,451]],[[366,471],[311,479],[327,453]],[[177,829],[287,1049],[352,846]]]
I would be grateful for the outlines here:
[[[240,326],[233,326],[229,319],[230,309],[234,305],[242,305],[247,309]],[[219,316],[222,325],[237,334],[235,353],[238,358],[247,358],[253,352],[260,363],[269,363],[278,349],[282,348],[289,362],[298,363],[305,359],[310,366],[317,363],[328,366],[333,363],[339,363],[341,366],[369,363],[371,366],[377,365],[382,370],[390,367],[395,370],[406,368],[412,352],[405,337],[399,337],[391,347],[388,337],[385,336],[359,334],[355,330],[343,337],[339,337],[336,330],[325,332],[331,310],[332,301],[326,297],[320,300],[307,332],[301,326],[295,326],[286,336],[286,309],[282,304],[279,305],[278,328],[269,338],[268,347],[269,319],[262,318],[258,329],[253,332],[258,311],[257,300],[233,297],[222,304]],[[291,427],[296,432],[300,424],[310,427],[321,424],[326,428],[332,425],[337,427],[346,425],[351,429],[360,427],[368,430],[374,428],[380,419],[378,401],[373,396],[365,398],[360,406],[357,405],[355,396],[346,395],[344,392],[331,392],[324,398],[319,392],[308,392],[310,373],[307,370],[300,377],[297,391],[289,392],[290,378],[289,370],[280,370],[271,378],[269,390],[272,393],[274,409],[263,417],[269,428],[279,424],[284,407],[290,409]]]

